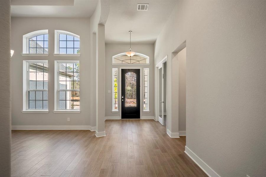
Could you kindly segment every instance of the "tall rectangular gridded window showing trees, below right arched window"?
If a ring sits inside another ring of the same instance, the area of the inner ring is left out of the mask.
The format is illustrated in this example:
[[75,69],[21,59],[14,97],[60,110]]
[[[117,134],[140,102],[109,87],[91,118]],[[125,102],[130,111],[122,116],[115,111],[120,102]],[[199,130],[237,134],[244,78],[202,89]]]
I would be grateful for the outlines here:
[[79,110],[79,61],[57,62],[57,109]]

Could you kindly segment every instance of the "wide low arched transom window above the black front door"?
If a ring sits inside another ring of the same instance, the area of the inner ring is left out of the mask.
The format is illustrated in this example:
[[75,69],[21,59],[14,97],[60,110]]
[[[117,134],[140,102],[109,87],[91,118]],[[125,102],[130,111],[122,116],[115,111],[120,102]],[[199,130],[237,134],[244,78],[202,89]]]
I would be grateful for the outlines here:
[[132,57],[120,53],[112,57],[112,65],[149,65],[149,57],[141,53],[135,53]]

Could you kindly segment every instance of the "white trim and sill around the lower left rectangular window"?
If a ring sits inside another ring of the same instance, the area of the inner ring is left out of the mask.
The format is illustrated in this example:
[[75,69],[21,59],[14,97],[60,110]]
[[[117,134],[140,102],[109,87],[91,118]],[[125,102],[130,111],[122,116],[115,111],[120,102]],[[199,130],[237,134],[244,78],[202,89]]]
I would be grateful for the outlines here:
[[[22,113],[48,113],[48,109],[28,109],[28,87],[29,87],[29,72],[28,72],[28,63],[48,63],[47,60],[23,60],[23,110]],[[48,66],[49,67],[49,66]],[[48,70],[49,72],[49,70]],[[40,90],[40,91],[48,91]],[[48,98],[48,108],[49,108],[49,98]]]

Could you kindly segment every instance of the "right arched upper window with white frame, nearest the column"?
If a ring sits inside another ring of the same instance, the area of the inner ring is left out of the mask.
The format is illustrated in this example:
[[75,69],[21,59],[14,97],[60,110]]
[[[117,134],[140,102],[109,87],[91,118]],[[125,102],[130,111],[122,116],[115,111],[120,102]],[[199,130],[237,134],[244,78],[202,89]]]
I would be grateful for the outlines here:
[[79,35],[55,30],[55,54],[80,54]]

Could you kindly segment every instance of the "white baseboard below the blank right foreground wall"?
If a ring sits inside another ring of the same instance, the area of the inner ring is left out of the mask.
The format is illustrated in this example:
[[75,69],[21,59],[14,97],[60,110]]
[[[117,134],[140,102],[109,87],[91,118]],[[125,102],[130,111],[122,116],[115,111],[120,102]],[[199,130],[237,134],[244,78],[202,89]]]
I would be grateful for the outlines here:
[[203,160],[201,160],[195,153],[185,146],[185,153],[209,176],[220,177],[212,168],[209,167]]

